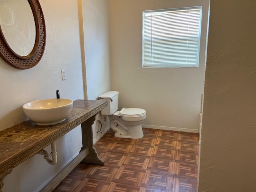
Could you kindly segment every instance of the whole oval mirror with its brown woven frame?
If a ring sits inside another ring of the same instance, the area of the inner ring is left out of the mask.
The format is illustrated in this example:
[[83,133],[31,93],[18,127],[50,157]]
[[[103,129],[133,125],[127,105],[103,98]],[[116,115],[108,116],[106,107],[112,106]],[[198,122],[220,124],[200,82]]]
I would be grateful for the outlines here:
[[46,42],[38,0],[0,0],[0,56],[11,66],[28,69],[42,58]]

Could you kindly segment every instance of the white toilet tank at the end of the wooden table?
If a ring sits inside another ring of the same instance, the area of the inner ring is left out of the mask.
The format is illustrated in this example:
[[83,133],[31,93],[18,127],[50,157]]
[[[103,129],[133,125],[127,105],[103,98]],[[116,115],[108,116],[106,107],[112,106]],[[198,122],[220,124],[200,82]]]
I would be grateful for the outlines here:
[[102,115],[112,115],[118,109],[118,91],[109,91],[99,96],[100,100],[108,100],[108,106],[101,111]]

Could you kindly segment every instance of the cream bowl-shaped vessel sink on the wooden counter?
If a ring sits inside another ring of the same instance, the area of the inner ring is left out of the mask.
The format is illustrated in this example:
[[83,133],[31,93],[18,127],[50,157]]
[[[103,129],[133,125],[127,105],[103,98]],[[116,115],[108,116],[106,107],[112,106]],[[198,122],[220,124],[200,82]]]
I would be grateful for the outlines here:
[[66,119],[73,108],[70,99],[42,99],[22,106],[24,113],[37,125],[54,125]]

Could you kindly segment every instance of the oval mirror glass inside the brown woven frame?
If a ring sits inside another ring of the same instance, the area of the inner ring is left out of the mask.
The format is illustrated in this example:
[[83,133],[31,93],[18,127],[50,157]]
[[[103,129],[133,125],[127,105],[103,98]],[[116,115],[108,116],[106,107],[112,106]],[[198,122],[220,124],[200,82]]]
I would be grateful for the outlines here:
[[27,0],[0,2],[0,26],[6,42],[16,54],[27,56],[32,52],[36,25]]

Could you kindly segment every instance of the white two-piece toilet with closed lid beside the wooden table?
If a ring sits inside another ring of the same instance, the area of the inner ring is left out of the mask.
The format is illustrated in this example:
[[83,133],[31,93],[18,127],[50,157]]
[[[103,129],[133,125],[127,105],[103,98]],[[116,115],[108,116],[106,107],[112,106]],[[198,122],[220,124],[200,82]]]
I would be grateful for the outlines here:
[[139,139],[143,137],[142,121],[146,118],[146,110],[140,108],[122,108],[118,111],[118,91],[109,91],[99,96],[100,100],[108,100],[108,106],[101,111],[109,116],[110,128],[116,137]]

